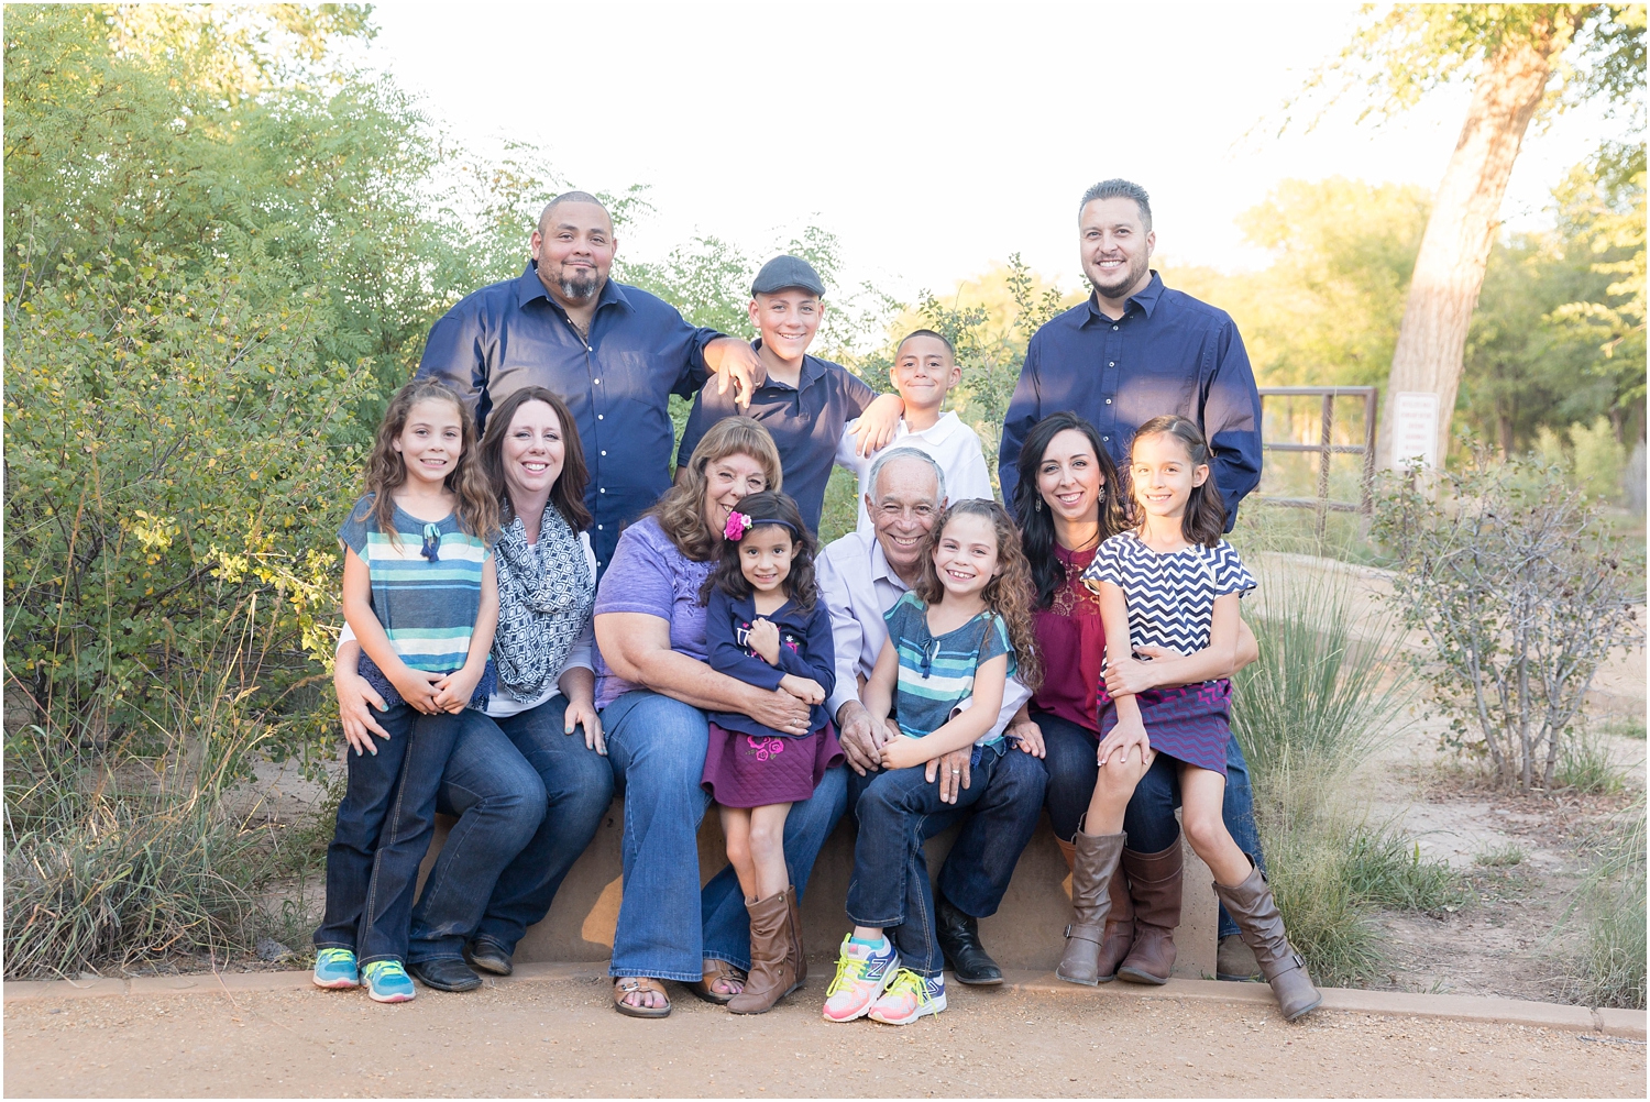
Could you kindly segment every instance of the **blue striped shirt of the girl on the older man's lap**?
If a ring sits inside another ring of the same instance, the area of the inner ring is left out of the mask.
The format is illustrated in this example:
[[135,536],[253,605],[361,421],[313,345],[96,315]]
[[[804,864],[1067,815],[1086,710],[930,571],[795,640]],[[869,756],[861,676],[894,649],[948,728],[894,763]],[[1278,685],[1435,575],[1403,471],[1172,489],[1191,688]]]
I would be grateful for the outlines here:
[[[899,690],[894,716],[899,729],[912,739],[934,734],[950,719],[957,704],[974,696],[974,673],[997,655],[1008,655],[1008,676],[1015,675],[1015,650],[1008,629],[995,612],[982,612],[962,627],[934,635],[927,625],[927,605],[908,592],[883,614],[888,638],[899,653]],[[987,746],[1002,739],[987,732],[978,741]]]

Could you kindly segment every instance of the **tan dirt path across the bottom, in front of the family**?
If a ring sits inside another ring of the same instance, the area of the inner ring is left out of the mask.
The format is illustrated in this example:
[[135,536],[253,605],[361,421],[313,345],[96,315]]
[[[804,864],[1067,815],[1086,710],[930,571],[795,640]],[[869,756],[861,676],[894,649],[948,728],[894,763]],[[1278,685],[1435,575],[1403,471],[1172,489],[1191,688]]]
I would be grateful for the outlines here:
[[[1015,991],[952,993],[896,1029],[818,1016],[823,978],[762,1018],[676,988],[667,1021],[597,978],[419,991],[10,1003],[5,1094],[38,1095],[1581,1095],[1643,1097],[1645,1048],[1572,1033]],[[960,985],[959,985],[960,987]]]

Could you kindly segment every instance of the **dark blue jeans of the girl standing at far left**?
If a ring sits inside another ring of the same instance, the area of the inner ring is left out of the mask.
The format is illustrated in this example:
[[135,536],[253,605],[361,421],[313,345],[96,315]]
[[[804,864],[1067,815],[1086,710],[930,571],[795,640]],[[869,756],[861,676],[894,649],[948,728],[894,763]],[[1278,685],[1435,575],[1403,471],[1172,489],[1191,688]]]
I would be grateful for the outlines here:
[[315,949],[353,950],[360,963],[406,960],[417,868],[436,833],[436,790],[460,718],[393,704],[378,716],[378,754],[348,752],[348,789],[327,846],[327,909]]

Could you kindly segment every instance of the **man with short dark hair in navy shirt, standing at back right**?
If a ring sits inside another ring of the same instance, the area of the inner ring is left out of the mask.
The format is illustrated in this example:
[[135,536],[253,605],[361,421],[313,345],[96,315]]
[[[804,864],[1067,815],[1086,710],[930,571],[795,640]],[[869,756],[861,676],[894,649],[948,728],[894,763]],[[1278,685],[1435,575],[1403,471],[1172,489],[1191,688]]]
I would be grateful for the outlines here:
[[[1125,478],[1137,427],[1158,414],[1196,421],[1213,449],[1209,472],[1226,503],[1228,531],[1244,495],[1261,483],[1261,394],[1238,325],[1224,310],[1165,287],[1152,271],[1155,246],[1152,200],[1138,183],[1104,180],[1082,193],[1077,249],[1094,290],[1086,302],[1043,325],[1026,348],[1020,384],[1003,419],[998,460],[1010,508],[1020,482],[1021,442],[1038,421],[1068,409],[1099,431]],[[1084,747],[1068,751],[1079,754]],[[1051,742],[1048,761],[1066,759]],[[1135,790],[1135,802],[1172,823],[1176,789],[1173,770],[1153,769]],[[1226,752],[1224,820],[1233,840],[1264,866],[1249,769],[1236,737]],[[1117,876],[1125,879],[1122,871]],[[1114,883],[1114,899],[1117,888]],[[1150,886],[1130,883],[1120,894],[1124,901],[1134,896],[1129,914],[1134,907],[1172,912],[1175,917],[1167,922],[1172,929],[1180,912],[1178,861],[1172,876]],[[1125,912],[1122,906],[1114,911]],[[1259,972],[1224,907],[1219,942],[1216,975],[1236,980]],[[1137,982],[1165,983],[1167,967],[1163,975]]]

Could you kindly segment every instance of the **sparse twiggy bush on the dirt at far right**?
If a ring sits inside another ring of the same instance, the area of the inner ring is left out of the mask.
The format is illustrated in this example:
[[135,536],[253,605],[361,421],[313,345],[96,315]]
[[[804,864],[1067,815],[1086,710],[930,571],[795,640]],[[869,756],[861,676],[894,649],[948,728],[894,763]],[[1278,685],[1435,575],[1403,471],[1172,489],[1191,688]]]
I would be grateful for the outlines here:
[[1622,539],[1559,469],[1483,452],[1434,487],[1389,483],[1374,533],[1404,624],[1432,642],[1417,662],[1449,741],[1503,785],[1553,787],[1599,665],[1643,638]]

